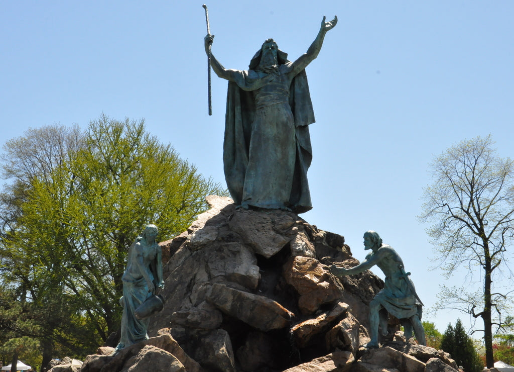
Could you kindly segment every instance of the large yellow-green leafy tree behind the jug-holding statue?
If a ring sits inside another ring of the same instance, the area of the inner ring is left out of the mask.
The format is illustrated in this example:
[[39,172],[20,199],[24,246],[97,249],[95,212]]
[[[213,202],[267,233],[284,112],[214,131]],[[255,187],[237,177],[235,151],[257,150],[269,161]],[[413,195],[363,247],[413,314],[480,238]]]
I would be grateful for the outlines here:
[[144,225],[170,239],[207,209],[207,194],[227,194],[146,133],[142,120],[102,116],[61,159],[21,172],[24,198],[0,247],[0,273],[11,285],[26,283],[22,292],[44,324],[43,365],[55,347],[82,356],[119,328],[127,248]]

